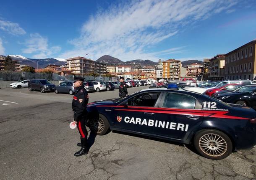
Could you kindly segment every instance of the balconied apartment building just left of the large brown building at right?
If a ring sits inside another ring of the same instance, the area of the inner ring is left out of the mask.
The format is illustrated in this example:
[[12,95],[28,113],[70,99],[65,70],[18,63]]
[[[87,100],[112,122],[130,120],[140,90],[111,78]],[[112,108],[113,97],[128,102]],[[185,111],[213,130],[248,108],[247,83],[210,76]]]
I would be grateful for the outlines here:
[[208,66],[208,80],[224,80],[225,54],[217,54],[211,58]]

